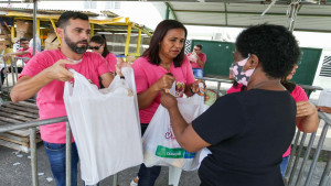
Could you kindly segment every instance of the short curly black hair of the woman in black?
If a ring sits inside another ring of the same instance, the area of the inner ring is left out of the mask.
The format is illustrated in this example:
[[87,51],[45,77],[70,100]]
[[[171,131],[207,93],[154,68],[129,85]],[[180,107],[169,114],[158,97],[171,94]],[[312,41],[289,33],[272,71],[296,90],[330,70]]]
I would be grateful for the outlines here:
[[257,55],[264,72],[274,78],[286,77],[298,63],[298,42],[285,26],[273,24],[253,25],[236,40],[236,50],[243,57]]

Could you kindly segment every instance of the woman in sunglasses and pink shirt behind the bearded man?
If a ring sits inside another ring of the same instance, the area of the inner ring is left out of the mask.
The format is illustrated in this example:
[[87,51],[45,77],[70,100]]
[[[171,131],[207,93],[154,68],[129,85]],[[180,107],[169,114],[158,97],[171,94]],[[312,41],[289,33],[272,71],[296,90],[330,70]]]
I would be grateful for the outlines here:
[[107,47],[106,39],[102,35],[94,35],[88,44],[88,48],[95,53],[99,53],[106,61],[109,72],[115,73],[117,59],[115,54],[110,53]]

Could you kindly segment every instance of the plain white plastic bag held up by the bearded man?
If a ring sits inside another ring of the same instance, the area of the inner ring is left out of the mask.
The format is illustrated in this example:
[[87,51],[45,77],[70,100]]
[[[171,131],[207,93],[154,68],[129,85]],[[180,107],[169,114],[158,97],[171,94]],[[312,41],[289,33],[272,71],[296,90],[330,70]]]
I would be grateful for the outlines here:
[[[72,69],[71,69],[72,70]],[[64,101],[86,185],[142,163],[141,131],[132,68],[100,91],[81,74],[65,83]],[[129,95],[129,89],[134,91]],[[118,91],[119,90],[119,91]]]

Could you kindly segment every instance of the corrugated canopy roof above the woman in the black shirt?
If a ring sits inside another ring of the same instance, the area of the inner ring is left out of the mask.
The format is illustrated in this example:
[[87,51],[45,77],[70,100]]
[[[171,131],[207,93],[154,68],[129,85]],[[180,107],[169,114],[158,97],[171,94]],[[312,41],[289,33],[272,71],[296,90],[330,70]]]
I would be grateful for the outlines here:
[[[263,17],[261,13],[268,8],[270,0],[200,1],[167,3],[174,18],[185,25],[247,28],[252,24],[270,23],[289,26],[287,12],[290,10],[291,0],[276,1]],[[295,31],[331,32],[331,0],[301,0]]]

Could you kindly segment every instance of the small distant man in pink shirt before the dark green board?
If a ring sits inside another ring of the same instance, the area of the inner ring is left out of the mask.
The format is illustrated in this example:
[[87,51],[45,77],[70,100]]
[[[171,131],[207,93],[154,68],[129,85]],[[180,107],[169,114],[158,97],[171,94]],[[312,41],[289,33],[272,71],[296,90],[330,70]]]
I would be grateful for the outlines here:
[[195,77],[203,77],[203,67],[205,65],[206,55],[201,51],[202,45],[197,44],[193,47],[193,52],[188,54]]

